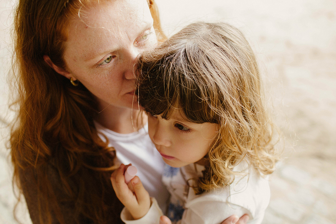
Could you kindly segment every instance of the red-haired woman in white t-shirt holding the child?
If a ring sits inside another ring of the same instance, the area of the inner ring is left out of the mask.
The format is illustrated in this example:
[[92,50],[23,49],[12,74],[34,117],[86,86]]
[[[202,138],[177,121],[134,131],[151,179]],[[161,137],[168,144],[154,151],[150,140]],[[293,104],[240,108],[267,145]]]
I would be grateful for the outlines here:
[[33,223],[120,223],[116,157],[143,168],[164,207],[163,163],[133,104],[136,57],[164,39],[154,1],[20,0],[14,19],[11,155]]

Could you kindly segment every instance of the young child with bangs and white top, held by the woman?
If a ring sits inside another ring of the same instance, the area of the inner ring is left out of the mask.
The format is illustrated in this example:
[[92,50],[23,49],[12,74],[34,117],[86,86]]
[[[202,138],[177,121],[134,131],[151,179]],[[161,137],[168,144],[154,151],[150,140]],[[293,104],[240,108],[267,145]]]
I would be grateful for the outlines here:
[[[277,161],[255,56],[243,34],[224,23],[185,27],[139,59],[138,100],[149,135],[167,163],[177,223],[219,224],[231,215],[261,223],[267,174]],[[122,165],[111,177],[125,223],[159,223],[155,198],[138,178],[128,187]]]

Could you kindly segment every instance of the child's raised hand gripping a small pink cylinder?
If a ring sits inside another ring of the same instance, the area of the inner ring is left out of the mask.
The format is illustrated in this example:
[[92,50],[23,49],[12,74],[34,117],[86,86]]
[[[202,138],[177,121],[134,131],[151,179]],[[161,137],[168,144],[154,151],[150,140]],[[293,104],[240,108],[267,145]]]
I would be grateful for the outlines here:
[[128,184],[125,183],[124,173],[127,167],[121,164],[112,173],[111,182],[121,203],[124,204],[134,219],[140,219],[151,207],[151,199],[149,193],[142,186],[139,177],[135,176]]

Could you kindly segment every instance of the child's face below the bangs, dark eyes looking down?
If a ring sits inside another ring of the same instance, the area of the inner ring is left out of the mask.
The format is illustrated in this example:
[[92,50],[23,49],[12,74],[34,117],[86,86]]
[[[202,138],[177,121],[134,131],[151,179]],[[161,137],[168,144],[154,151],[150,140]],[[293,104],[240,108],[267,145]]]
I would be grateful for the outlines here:
[[198,162],[216,135],[217,124],[188,122],[176,110],[169,120],[148,116],[148,132],[163,160],[172,167]]

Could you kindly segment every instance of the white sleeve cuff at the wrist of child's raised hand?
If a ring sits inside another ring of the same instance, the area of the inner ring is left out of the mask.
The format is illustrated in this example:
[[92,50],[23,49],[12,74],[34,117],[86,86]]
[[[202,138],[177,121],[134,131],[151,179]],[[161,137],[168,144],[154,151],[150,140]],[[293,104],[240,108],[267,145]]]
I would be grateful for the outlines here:
[[120,218],[126,224],[159,224],[162,215],[158,202],[154,197],[151,197],[151,207],[142,218],[134,220],[126,207],[121,211]]

